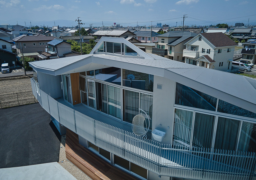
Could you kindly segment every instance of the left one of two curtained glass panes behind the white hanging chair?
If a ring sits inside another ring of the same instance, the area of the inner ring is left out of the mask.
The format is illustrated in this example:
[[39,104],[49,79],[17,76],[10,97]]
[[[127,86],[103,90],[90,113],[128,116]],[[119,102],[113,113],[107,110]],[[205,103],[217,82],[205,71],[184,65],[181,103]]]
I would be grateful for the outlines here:
[[138,114],[139,93],[125,90],[125,121],[132,123],[132,119]]

